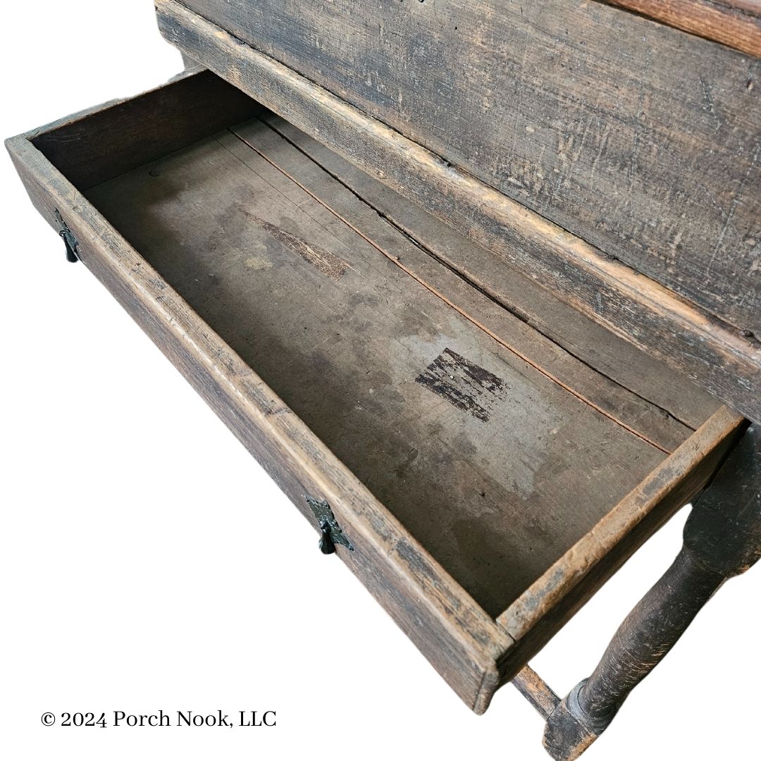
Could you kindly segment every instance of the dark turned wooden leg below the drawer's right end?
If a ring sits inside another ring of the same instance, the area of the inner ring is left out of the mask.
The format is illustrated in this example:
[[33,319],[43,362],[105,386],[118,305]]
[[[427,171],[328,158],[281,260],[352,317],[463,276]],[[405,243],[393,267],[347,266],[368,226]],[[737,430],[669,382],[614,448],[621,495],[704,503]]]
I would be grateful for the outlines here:
[[756,425],[696,501],[673,565],[629,613],[591,677],[550,713],[544,734],[549,755],[557,761],[578,758],[718,587],[759,557],[761,426]]

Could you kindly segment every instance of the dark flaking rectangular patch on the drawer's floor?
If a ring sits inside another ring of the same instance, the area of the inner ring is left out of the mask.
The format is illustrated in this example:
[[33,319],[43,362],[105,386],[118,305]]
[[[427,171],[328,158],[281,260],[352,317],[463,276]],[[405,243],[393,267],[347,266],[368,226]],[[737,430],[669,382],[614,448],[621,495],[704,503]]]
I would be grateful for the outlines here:
[[506,398],[504,380],[451,349],[444,349],[415,381],[482,422]]

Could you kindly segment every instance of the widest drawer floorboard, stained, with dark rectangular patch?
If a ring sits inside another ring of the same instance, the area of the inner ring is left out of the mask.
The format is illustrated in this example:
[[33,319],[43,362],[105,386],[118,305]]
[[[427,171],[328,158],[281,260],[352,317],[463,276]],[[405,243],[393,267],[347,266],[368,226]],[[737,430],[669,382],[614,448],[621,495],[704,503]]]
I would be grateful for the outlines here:
[[230,132],[88,197],[493,616],[664,460]]

